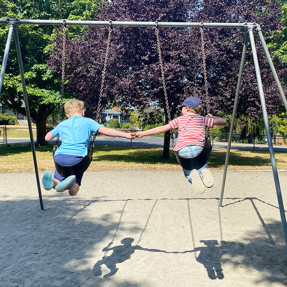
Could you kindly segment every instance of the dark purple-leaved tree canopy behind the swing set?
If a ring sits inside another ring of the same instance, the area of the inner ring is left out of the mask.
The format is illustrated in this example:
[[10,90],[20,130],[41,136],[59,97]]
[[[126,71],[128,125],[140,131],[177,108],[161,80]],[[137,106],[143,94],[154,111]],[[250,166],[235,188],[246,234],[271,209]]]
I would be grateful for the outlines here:
[[[265,38],[275,30],[282,30],[281,8],[277,2],[250,1],[174,1],[174,0],[115,0],[103,5],[95,20],[160,22],[257,22]],[[207,102],[198,28],[160,28],[165,82],[171,117],[175,107],[187,96],[198,96]],[[255,32],[256,34],[256,32]],[[67,88],[90,107],[89,116],[96,111],[103,63],[106,52],[107,27],[90,27],[84,36],[70,39],[67,45]],[[281,102],[272,73],[259,38],[256,39],[261,77],[269,114],[274,114]],[[244,40],[243,29],[204,28],[210,111],[222,110],[230,114],[233,108],[239,65]],[[61,38],[56,40],[49,65],[59,70],[58,53]],[[102,105],[116,101],[122,110],[150,106],[163,108],[166,104],[162,87],[159,57],[154,28],[113,27],[108,55],[108,76],[104,84]],[[286,67],[278,61],[280,77]],[[241,84],[238,113],[247,116],[261,114],[261,104],[253,64],[248,47]],[[166,118],[167,120],[167,118]],[[166,156],[169,137],[165,139]]]

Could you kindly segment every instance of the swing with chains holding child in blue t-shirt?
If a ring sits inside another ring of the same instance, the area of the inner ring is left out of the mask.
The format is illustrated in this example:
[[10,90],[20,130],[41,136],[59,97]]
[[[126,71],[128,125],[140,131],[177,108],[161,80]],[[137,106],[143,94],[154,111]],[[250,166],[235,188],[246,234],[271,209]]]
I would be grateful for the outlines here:
[[[65,26],[65,20],[63,20],[63,58],[62,58],[62,81],[61,81],[61,101],[60,101],[60,115],[59,115],[59,122],[62,121],[62,112],[63,112],[63,98],[64,98],[64,80],[65,80],[65,40],[66,40],[66,26]],[[109,24],[109,32],[108,32],[108,41],[107,41],[107,47],[106,47],[106,57],[104,61],[104,69],[102,73],[102,82],[101,82],[101,89],[100,89],[100,95],[99,95],[99,102],[98,102],[98,110],[97,110],[97,118],[96,121],[100,120],[100,105],[101,105],[101,99],[102,99],[102,92],[103,92],[103,86],[104,86],[104,78],[106,74],[106,63],[108,58],[108,51],[110,46],[110,34],[112,30],[112,22],[110,21]],[[88,167],[90,166],[92,159],[93,159],[93,148],[94,148],[94,142],[96,138],[96,133],[93,134],[93,139],[91,145],[88,147],[88,153],[86,156],[84,156],[79,162],[73,165],[61,165],[55,160],[55,151],[58,148],[58,142],[59,142],[60,136],[56,139],[56,144],[53,147],[53,160],[55,164],[55,168],[57,172],[62,177],[69,177],[70,175],[75,175],[76,177],[79,177],[81,174],[83,174]]]

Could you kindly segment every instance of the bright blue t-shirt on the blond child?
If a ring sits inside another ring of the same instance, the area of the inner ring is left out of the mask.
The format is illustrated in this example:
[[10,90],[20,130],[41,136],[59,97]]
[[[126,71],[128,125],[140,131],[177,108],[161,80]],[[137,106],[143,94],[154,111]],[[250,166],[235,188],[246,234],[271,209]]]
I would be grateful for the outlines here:
[[72,154],[75,156],[86,156],[88,145],[93,133],[101,127],[90,118],[73,116],[62,121],[51,131],[54,137],[61,137],[62,144],[56,150],[56,154]]

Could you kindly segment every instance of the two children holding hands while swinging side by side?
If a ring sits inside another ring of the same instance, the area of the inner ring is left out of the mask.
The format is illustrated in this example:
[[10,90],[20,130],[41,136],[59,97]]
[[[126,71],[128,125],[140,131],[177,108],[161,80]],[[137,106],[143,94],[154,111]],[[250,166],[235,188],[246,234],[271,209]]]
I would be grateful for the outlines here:
[[[192,158],[201,152],[204,146],[205,127],[213,125],[224,126],[227,122],[219,117],[208,114],[200,116],[202,111],[201,100],[197,97],[189,97],[183,101],[181,106],[182,116],[170,121],[167,125],[156,127],[147,131],[137,133],[125,133],[101,126],[96,121],[85,118],[84,102],[69,100],[64,104],[67,120],[59,123],[55,129],[46,134],[46,141],[51,141],[58,135],[62,144],[55,152],[55,160],[61,165],[73,165],[79,162],[88,152],[88,144],[93,133],[99,132],[108,136],[125,137],[127,139],[139,139],[145,135],[164,133],[170,129],[178,128],[179,136],[174,150],[179,151],[180,156]],[[204,185],[211,187],[213,177],[208,169],[207,163],[199,170],[183,169],[185,177],[198,193],[203,193]],[[69,195],[76,195],[81,185],[82,176],[71,175],[66,179],[55,170],[44,172],[42,184],[44,189],[54,188],[56,191],[68,191]]]

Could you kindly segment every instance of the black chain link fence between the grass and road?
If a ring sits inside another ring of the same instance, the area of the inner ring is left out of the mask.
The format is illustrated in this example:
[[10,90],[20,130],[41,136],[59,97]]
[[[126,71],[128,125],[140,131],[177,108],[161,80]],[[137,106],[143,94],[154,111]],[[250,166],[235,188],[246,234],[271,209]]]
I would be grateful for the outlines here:
[[[36,141],[36,128],[32,128],[34,141]],[[47,132],[52,128],[48,128]],[[30,135],[28,128],[18,128],[3,126],[0,127],[0,143],[4,144],[27,144],[30,142]],[[119,130],[126,133],[135,133],[135,130]],[[228,133],[212,133],[211,142],[214,149],[227,149]],[[176,142],[176,140],[175,140]],[[55,144],[55,140],[50,141]],[[274,135],[272,136],[272,143],[275,151],[287,152],[287,136]],[[95,138],[95,145],[117,145],[117,146],[147,146],[147,147],[163,147],[164,134],[151,135],[142,137],[138,140],[126,139],[121,137],[110,137],[98,134]],[[172,144],[170,143],[170,146]],[[266,135],[232,135],[231,149],[238,150],[265,150],[268,151],[268,143]]]

